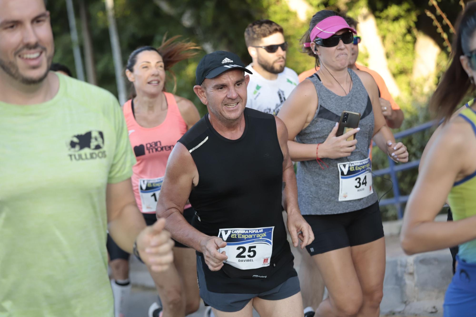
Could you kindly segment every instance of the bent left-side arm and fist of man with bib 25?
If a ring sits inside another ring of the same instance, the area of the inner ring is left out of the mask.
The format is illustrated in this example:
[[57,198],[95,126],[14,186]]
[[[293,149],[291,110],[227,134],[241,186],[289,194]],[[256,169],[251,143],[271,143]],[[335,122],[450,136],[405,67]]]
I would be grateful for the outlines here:
[[212,271],[223,266],[228,257],[218,252],[226,243],[193,228],[183,217],[190,192],[198,184],[198,170],[188,149],[178,142],[170,153],[157,202],[157,217],[166,218],[166,228],[177,241],[202,252]]

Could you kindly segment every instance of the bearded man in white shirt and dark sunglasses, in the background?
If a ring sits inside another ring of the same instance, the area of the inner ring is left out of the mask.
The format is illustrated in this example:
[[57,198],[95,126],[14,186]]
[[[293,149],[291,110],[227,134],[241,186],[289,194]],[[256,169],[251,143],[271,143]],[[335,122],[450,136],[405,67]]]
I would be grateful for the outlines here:
[[253,72],[246,106],[277,115],[299,83],[297,73],[285,66],[288,43],[283,28],[271,20],[254,21],[245,30],[245,42],[253,59],[246,67]]

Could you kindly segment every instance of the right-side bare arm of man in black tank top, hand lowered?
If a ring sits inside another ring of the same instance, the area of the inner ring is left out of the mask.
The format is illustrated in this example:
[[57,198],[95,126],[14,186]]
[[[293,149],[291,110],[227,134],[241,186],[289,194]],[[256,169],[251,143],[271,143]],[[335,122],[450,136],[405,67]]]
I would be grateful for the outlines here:
[[279,146],[283,152],[283,207],[288,213],[288,230],[294,247],[298,245],[298,238],[301,239],[301,248],[306,247],[314,240],[314,234],[306,220],[301,216],[301,211],[297,204],[297,182],[294,173],[294,165],[289,157],[288,151],[288,129],[284,122],[275,117],[276,129],[278,132]]

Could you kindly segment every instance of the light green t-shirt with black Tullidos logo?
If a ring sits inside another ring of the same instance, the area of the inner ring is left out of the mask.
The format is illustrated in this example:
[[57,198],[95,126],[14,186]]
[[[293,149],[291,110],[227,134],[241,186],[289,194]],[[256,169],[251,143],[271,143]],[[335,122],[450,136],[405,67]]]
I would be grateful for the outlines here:
[[0,317],[111,317],[106,186],[134,153],[116,98],[58,75],[48,102],[0,102]]

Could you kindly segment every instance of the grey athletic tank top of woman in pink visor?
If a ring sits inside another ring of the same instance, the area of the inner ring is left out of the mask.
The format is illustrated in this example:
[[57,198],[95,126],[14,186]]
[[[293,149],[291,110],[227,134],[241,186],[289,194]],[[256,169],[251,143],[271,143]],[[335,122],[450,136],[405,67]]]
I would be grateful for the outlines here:
[[365,198],[339,201],[339,169],[337,163],[363,160],[369,156],[370,142],[374,132],[374,112],[362,81],[357,74],[348,69],[353,86],[347,96],[338,96],[327,89],[317,76],[308,77],[316,87],[318,105],[311,123],[296,136],[299,143],[323,143],[330,131],[339,122],[342,111],[360,113],[359,128],[356,134],[356,149],[347,158],[323,158],[322,169],[316,160],[297,164],[297,197],[303,215],[340,214],[366,208],[377,201],[377,193]]

